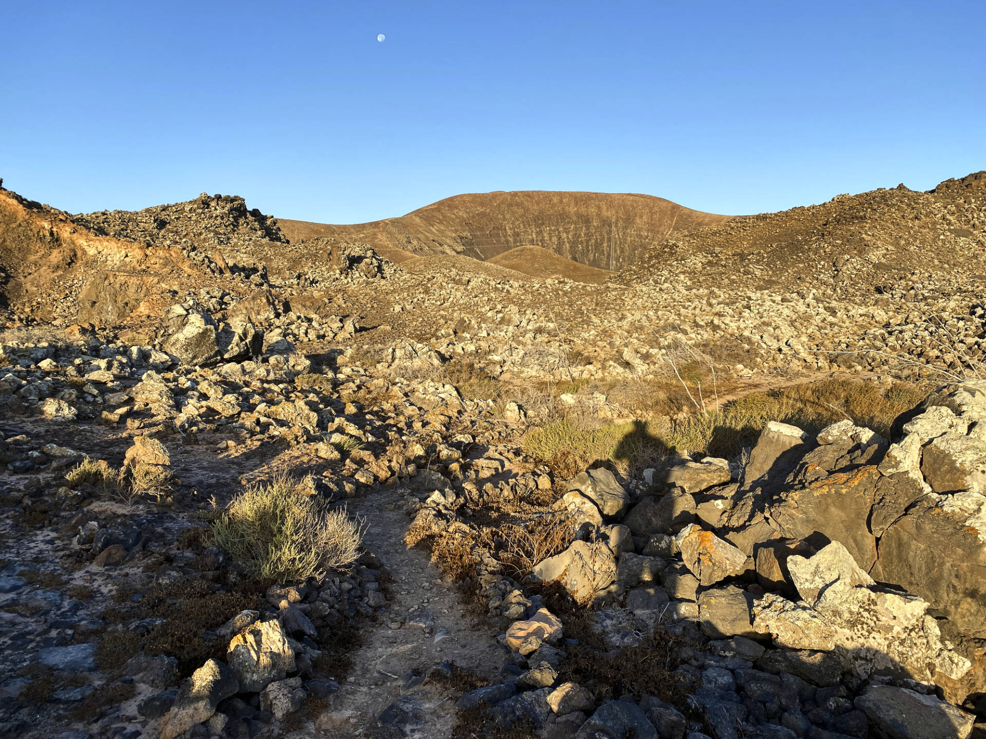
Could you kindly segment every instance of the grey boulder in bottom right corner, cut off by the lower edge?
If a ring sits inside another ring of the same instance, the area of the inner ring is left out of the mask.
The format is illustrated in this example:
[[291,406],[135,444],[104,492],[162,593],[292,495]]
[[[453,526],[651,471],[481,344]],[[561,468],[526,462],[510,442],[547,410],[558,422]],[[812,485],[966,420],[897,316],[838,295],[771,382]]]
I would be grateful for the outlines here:
[[936,696],[890,685],[867,688],[855,705],[889,739],[966,739],[975,720]]

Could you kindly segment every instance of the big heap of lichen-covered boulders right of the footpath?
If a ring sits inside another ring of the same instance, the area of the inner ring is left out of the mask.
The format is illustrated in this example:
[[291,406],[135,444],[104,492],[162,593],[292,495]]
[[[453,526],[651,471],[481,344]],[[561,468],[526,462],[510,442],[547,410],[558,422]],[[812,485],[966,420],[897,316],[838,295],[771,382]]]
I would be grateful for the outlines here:
[[[674,674],[715,737],[970,736],[986,716],[984,423],[986,382],[965,381],[899,419],[893,443],[849,421],[815,437],[771,423],[742,474],[685,461],[635,496],[590,470],[556,504],[579,539],[529,578],[595,606],[613,649],[655,627],[689,644]],[[435,494],[417,521],[467,527],[457,508]],[[597,706],[559,685],[561,623],[485,571],[520,669],[463,707],[546,736],[701,736],[653,696]]]

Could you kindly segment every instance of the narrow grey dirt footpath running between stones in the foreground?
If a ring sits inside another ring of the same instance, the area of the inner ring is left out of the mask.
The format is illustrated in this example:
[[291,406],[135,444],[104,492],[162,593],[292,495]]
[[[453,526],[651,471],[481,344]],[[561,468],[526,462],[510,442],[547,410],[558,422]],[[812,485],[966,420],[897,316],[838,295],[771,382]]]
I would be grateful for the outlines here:
[[[363,628],[364,643],[353,655],[350,675],[309,736],[447,739],[456,721],[456,694],[434,680],[408,684],[409,671],[423,675],[449,660],[495,677],[503,666],[506,652],[496,635],[473,625],[453,583],[425,552],[406,548],[410,521],[400,501],[396,492],[380,491],[351,505],[367,521],[364,546],[393,578],[390,603],[376,623]],[[385,720],[379,720],[388,706]]]

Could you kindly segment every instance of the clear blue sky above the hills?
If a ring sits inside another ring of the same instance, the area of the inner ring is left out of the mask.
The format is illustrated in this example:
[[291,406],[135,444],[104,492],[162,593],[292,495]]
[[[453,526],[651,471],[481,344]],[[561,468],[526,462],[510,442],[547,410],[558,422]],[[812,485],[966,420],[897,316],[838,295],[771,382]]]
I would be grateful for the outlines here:
[[0,176],[72,212],[207,191],[327,223],[928,189],[986,168],[983,28],[982,0],[6,3]]

